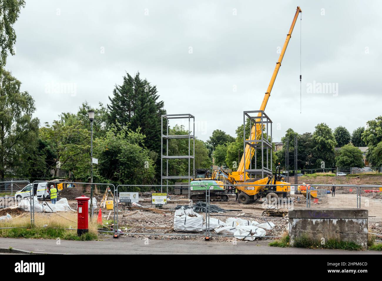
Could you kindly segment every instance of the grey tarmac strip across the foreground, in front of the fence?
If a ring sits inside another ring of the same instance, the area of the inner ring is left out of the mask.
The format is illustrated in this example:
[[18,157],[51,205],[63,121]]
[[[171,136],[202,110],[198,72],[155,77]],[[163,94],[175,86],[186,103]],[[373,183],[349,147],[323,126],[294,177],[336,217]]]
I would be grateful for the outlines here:
[[[58,244],[60,242],[60,244]],[[0,238],[0,248],[40,253],[61,254],[382,254],[377,251],[314,250],[301,248],[269,247],[269,241],[232,242],[194,240],[145,240],[141,238],[103,241],[68,241],[50,239]]]

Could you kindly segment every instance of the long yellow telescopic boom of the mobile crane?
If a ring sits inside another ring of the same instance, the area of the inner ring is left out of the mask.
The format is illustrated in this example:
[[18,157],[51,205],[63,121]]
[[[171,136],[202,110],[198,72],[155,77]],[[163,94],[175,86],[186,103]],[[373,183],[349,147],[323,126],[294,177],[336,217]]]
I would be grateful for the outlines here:
[[[285,42],[284,42],[284,46],[283,46],[283,49],[281,50],[281,54],[280,54],[280,57],[278,57],[278,61],[276,63],[276,67],[275,67],[275,70],[273,71],[273,74],[272,74],[272,77],[270,78],[270,82],[269,82],[269,85],[268,85],[268,88],[267,88],[267,91],[265,92],[265,95],[264,95],[264,99],[261,103],[261,106],[260,106],[260,110],[265,110],[265,107],[267,106],[267,102],[268,102],[268,99],[270,97],[270,92],[272,91],[272,88],[273,88],[273,85],[275,83],[275,80],[276,80],[276,76],[277,76],[277,73],[278,73],[278,70],[280,69],[280,66],[281,66],[281,62],[283,60],[283,57],[285,55],[285,51],[286,51],[286,47],[288,46],[288,43],[289,43],[289,40],[290,40],[290,37],[292,35],[292,32],[293,32],[293,28],[295,27],[295,24],[296,24],[296,21],[297,21],[297,18],[298,18],[298,15],[299,13],[301,13],[301,9],[300,7],[298,6],[297,7],[297,10],[296,10],[296,14],[295,14],[295,17],[293,18],[293,21],[292,21],[292,24],[290,26],[290,29],[289,29],[289,32],[288,34],[286,35],[286,39],[285,39]],[[261,113],[259,113],[257,116],[261,116]],[[256,121],[259,121],[256,120]],[[257,125],[254,125],[252,128],[251,128],[251,136],[249,138],[249,140],[254,140],[255,137],[259,137],[261,135],[261,131],[262,131],[262,127],[261,125],[257,124]],[[251,152],[250,152],[251,151]],[[251,159],[252,159],[252,156],[254,154],[254,149],[250,149],[250,145],[246,145],[245,146],[245,154],[243,154],[243,156],[241,157],[241,161],[240,161],[240,164],[238,166],[238,169],[237,169],[237,172],[240,174],[240,173],[243,173],[244,172],[244,163],[245,163],[245,169],[248,169],[249,168],[249,164],[251,162]],[[244,159],[244,155],[245,155],[245,159]],[[236,173],[235,173],[236,174]]]

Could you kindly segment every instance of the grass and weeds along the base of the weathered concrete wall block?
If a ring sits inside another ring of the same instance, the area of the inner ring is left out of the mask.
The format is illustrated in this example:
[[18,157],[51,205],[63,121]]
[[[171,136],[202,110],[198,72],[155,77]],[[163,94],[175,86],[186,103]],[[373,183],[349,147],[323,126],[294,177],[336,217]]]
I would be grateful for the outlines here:
[[284,236],[282,239],[276,240],[268,244],[271,247],[296,247],[296,248],[308,248],[308,249],[336,249],[336,250],[348,250],[348,251],[360,251],[363,250],[361,245],[358,245],[351,241],[340,241],[336,239],[329,239],[325,244],[321,244],[319,240],[313,240],[307,235],[302,235],[294,240],[293,245],[290,245],[289,236]]

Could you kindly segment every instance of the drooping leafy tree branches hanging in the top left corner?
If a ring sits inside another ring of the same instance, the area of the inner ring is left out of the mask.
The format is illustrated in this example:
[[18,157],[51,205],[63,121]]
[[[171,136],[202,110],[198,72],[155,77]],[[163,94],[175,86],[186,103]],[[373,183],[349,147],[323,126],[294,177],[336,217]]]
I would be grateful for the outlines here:
[[24,0],[0,0],[0,67],[5,66],[8,51],[15,55],[13,45],[16,43],[16,32],[13,24],[24,7]]

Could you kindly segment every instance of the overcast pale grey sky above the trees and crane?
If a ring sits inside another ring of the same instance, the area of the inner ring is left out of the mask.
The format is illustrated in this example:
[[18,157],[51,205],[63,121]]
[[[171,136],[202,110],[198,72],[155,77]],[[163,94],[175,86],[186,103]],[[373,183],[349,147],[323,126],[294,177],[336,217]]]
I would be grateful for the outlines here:
[[274,141],[321,122],[351,133],[382,115],[381,1],[27,0],[6,68],[41,125],[84,101],[107,103],[125,72],[139,71],[168,114],[195,116],[200,139],[235,136],[243,110],[261,105],[298,5],[302,113],[298,20],[265,109]]

